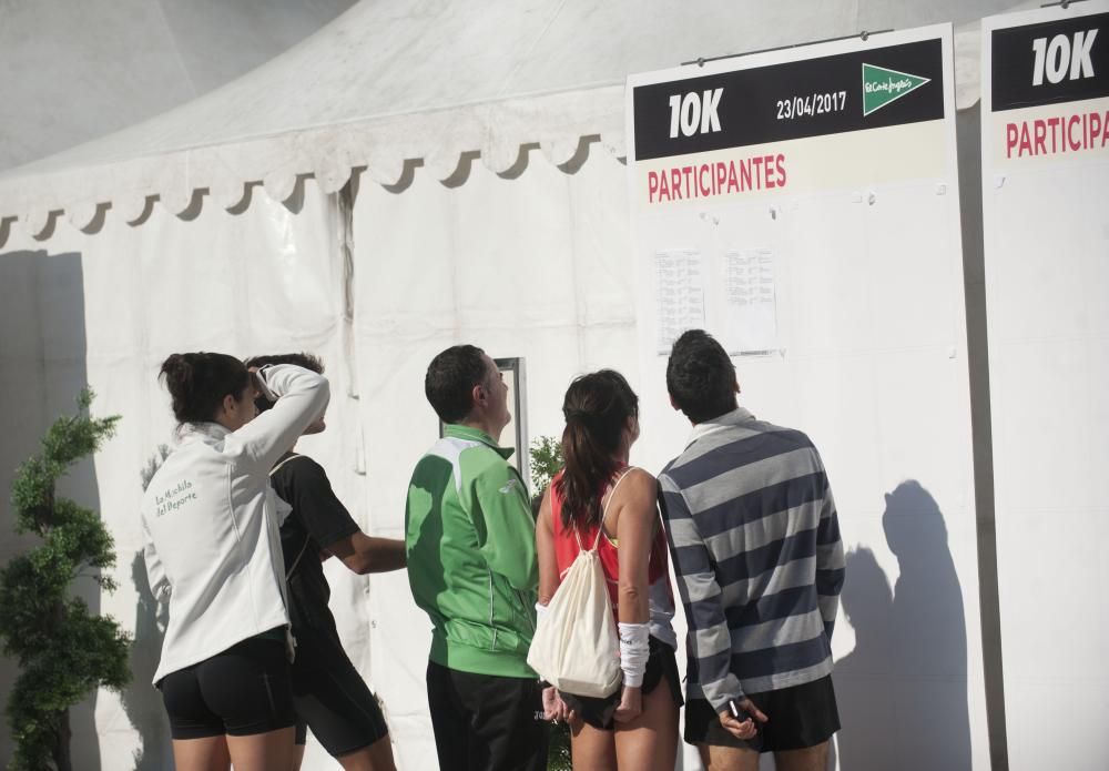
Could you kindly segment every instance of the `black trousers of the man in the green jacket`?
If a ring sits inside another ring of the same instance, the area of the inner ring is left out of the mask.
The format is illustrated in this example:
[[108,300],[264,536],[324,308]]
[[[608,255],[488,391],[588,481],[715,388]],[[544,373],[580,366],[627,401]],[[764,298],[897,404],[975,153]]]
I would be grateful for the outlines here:
[[549,723],[533,678],[501,678],[429,661],[439,771],[546,771]]

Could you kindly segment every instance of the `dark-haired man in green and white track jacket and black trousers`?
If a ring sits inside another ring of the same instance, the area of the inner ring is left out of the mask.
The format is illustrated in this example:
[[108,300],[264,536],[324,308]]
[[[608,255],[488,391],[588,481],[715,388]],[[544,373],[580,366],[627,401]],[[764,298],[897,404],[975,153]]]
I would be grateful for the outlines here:
[[[408,485],[405,548],[431,619],[427,696],[439,768],[547,767],[541,694],[528,667],[536,629],[536,527],[528,490],[497,445],[508,386],[480,348],[456,345],[424,390],[446,424]],[[538,713],[538,714],[537,714]]]

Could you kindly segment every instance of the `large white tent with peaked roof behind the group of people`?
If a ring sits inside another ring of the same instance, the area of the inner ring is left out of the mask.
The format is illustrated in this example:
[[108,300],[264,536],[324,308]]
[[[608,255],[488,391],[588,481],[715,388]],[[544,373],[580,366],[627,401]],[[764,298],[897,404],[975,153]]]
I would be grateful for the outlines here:
[[[304,449],[364,529],[400,537],[408,474],[438,429],[423,373],[447,345],[527,361],[531,437],[560,433],[577,373],[611,366],[638,389],[661,387],[635,377],[628,73],[954,21],[959,104],[969,108],[977,20],[1015,6],[364,1],[206,97],[0,175],[0,383],[14,395],[0,486],[80,384],[100,393],[98,412],[123,415],[73,487],[99,496],[116,539],[121,589],[93,603],[138,630],[136,680],[122,700],[101,693],[79,714],[81,767],[129,768],[143,750],[142,768],[169,764],[161,706],[144,682],[155,613],[141,576],[129,577],[139,470],[171,428],[154,379],[165,355],[322,354],[333,427]],[[644,445],[652,459],[676,449],[652,446],[649,430]],[[974,532],[960,537],[958,548],[975,548]],[[20,546],[0,545],[0,561]],[[403,576],[328,570],[340,631],[385,701],[401,767],[429,768],[426,618]],[[968,626],[976,598],[973,607]],[[983,653],[970,657],[970,674],[964,665],[949,679],[971,702],[965,757],[985,768]],[[4,665],[0,683],[12,677]],[[311,748],[305,768],[329,767]]]

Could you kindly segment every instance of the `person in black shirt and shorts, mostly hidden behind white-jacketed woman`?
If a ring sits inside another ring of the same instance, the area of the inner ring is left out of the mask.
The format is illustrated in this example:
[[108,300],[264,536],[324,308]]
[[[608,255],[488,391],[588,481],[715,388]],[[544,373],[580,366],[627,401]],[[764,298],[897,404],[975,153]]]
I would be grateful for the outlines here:
[[[307,354],[256,356],[248,366],[296,364],[317,373],[323,364]],[[258,404],[264,410],[269,405]],[[324,422],[304,433],[316,434]],[[323,560],[337,557],[359,575],[405,567],[403,540],[367,536],[335,496],[323,467],[306,455],[286,453],[269,474],[277,495],[292,506],[281,526],[288,612],[296,638],[293,701],[296,709],[296,769],[304,758],[307,728],[346,771],[393,771],[385,717],[374,693],[350,663],[327,607],[330,588]]]

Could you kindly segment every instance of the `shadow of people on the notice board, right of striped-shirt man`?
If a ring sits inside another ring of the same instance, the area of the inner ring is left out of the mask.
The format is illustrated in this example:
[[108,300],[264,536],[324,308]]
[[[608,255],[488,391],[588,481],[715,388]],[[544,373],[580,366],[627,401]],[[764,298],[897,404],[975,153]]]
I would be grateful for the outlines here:
[[970,769],[967,627],[944,514],[916,480],[886,494],[882,516],[899,575],[847,555],[841,611],[855,649],[835,667],[846,771]]

